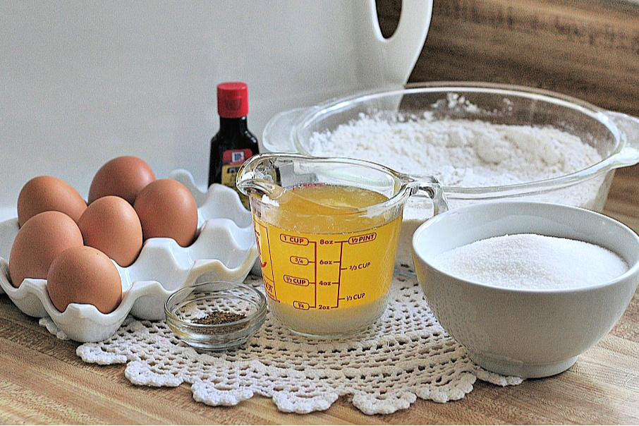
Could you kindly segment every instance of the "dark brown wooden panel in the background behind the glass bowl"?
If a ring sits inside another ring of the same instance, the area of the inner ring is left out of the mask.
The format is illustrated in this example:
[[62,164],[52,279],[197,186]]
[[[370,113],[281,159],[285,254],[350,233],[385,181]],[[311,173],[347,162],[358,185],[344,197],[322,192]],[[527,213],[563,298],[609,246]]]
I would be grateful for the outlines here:
[[[401,0],[378,0],[391,35]],[[639,2],[435,0],[410,82],[542,87],[639,116]]]

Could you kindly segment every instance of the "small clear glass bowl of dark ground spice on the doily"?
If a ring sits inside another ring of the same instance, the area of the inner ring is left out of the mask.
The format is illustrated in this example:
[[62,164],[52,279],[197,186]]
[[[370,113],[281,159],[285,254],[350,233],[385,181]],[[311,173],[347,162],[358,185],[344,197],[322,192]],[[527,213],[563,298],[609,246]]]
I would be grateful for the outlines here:
[[181,288],[164,304],[166,325],[194,348],[224,351],[262,327],[266,298],[245,284],[210,281]]

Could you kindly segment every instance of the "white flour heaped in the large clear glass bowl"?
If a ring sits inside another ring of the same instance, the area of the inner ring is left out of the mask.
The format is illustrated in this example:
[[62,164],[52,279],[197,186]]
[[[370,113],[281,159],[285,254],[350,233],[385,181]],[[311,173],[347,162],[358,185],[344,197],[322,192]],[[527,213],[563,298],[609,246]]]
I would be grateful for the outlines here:
[[[602,161],[595,148],[556,128],[436,119],[430,112],[392,120],[360,114],[332,132],[315,133],[307,149],[313,155],[365,159],[406,174],[432,175],[442,185],[462,188],[539,181]],[[537,199],[592,208],[602,179]],[[462,205],[451,198],[451,207]],[[413,232],[431,215],[429,203],[409,200],[396,264],[412,266]]]

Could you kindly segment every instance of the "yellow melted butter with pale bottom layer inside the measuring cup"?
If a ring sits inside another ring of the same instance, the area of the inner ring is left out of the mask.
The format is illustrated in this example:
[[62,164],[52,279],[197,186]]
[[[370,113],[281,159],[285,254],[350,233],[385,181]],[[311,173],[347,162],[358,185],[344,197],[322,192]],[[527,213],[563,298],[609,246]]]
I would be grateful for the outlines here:
[[[340,336],[384,312],[401,229],[401,207],[372,190],[324,183],[284,190],[253,210],[269,308],[287,327]],[[257,214],[256,214],[257,211]]]

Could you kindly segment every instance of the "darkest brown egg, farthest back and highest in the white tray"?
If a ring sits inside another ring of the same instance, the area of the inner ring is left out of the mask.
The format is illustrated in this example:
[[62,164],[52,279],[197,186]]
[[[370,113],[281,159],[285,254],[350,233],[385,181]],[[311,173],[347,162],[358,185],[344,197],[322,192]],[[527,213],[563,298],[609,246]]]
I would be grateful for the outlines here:
[[104,163],[89,188],[89,204],[106,195],[117,195],[130,205],[146,185],[155,180],[151,167],[138,157],[117,157]]

